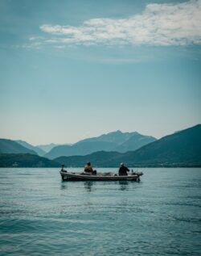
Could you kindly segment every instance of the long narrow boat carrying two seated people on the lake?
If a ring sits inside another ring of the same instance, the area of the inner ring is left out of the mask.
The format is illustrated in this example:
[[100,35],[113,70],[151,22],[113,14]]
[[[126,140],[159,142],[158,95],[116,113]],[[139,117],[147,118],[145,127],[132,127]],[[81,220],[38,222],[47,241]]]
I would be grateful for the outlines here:
[[128,175],[118,175],[113,173],[100,173],[100,174],[85,174],[68,172],[67,170],[60,170],[60,175],[63,181],[139,181],[142,172],[134,172]]

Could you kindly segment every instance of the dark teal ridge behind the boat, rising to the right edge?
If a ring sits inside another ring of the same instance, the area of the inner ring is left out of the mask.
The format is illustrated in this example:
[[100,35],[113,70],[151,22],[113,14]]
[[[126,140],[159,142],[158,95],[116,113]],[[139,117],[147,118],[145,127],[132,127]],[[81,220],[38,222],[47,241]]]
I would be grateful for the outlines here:
[[92,162],[98,167],[128,166],[201,166],[201,124],[164,136],[127,153],[96,152],[87,156],[58,157],[55,162],[66,166],[84,166]]

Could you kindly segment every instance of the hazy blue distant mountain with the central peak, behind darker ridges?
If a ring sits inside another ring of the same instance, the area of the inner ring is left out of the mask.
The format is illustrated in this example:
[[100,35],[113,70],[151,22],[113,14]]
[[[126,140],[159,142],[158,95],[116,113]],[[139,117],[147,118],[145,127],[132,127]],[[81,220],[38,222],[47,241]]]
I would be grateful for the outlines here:
[[60,156],[84,156],[97,151],[126,152],[139,149],[142,145],[155,140],[152,136],[143,136],[137,132],[109,132],[108,134],[78,141],[73,145],[59,145],[45,154],[45,157],[53,159]]

